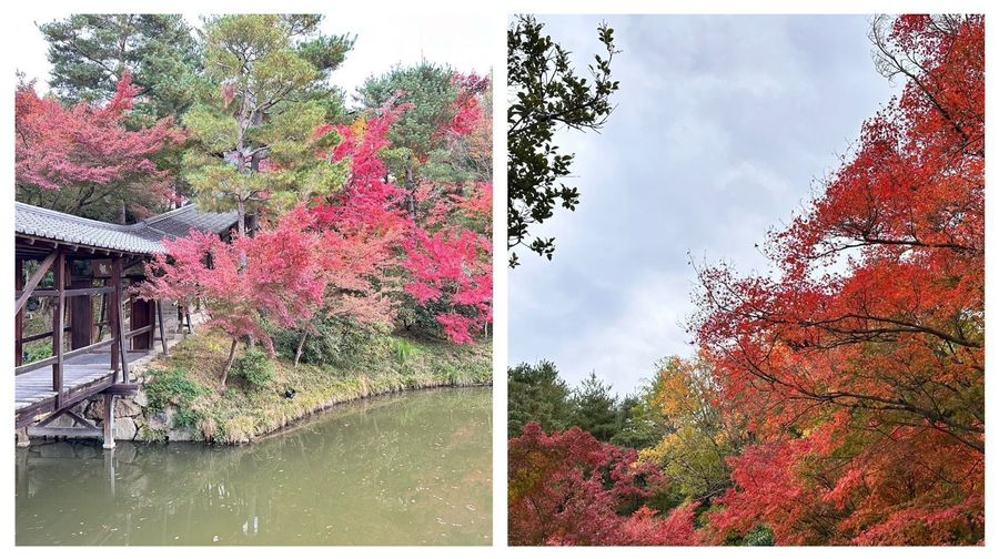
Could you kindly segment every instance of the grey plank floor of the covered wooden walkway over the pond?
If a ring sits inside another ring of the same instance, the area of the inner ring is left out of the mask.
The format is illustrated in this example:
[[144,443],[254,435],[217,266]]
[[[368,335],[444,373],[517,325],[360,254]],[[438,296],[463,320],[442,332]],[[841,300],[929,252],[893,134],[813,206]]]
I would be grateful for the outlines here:
[[[129,352],[133,363],[148,352]],[[18,375],[14,385],[14,424],[20,427],[93,396],[114,384],[110,352],[94,352],[70,357],[63,364],[61,402],[52,389],[52,367],[42,367]]]

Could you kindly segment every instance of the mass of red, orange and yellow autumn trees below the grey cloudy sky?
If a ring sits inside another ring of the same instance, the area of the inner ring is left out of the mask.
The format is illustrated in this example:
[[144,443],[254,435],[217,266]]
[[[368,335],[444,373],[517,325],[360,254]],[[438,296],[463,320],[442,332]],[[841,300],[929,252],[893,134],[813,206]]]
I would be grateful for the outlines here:
[[983,543],[985,21],[870,39],[900,94],[770,233],[771,273],[696,267],[695,357],[625,398],[648,430],[601,446],[512,402],[512,543]]

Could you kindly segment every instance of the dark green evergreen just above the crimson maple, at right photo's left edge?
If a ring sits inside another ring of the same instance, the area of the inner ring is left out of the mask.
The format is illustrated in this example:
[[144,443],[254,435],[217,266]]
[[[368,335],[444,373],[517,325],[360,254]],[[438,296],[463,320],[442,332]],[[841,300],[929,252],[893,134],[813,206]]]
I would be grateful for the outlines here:
[[551,362],[522,363],[507,370],[507,437],[519,437],[524,426],[537,421],[547,433],[572,425],[569,389]]

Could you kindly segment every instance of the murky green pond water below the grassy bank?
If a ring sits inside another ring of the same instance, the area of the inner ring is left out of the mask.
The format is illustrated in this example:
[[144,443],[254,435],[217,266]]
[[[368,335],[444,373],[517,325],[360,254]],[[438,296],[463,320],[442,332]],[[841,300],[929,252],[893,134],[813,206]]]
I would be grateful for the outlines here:
[[18,545],[490,545],[492,392],[333,408],[243,447],[33,441]]

